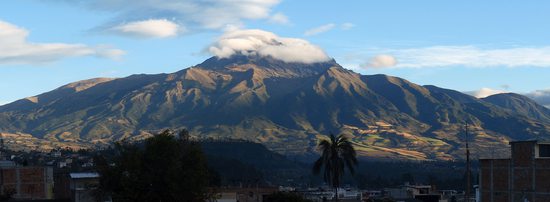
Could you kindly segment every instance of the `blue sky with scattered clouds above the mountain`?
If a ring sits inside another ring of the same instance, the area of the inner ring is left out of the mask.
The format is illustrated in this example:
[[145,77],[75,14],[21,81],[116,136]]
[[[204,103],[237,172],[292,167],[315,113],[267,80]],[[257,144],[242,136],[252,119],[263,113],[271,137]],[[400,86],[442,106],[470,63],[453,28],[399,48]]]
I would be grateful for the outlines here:
[[175,72],[248,29],[306,40],[362,74],[483,94],[550,92],[549,9],[547,1],[5,1],[0,104],[78,80]]

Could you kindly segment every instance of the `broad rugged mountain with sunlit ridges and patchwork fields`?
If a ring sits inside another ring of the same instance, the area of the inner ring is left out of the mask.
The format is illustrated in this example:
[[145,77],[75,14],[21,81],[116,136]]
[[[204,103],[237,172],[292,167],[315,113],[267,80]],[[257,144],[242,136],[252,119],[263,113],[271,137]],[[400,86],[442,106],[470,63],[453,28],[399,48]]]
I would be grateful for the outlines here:
[[107,143],[187,128],[198,137],[240,138],[304,155],[315,152],[320,134],[342,133],[362,156],[396,159],[461,158],[464,123],[474,131],[476,155],[509,140],[550,136],[545,119],[458,91],[357,74],[334,60],[212,57],[175,73],[84,87],[43,105],[0,106],[0,131]]

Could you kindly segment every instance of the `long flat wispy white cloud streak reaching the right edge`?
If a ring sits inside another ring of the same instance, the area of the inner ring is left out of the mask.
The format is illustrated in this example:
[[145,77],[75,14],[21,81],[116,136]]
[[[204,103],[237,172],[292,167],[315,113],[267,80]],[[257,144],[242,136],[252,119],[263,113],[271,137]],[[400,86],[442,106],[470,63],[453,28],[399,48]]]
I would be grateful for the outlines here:
[[396,68],[550,67],[550,46],[494,49],[476,46],[432,46],[382,51],[399,60]]

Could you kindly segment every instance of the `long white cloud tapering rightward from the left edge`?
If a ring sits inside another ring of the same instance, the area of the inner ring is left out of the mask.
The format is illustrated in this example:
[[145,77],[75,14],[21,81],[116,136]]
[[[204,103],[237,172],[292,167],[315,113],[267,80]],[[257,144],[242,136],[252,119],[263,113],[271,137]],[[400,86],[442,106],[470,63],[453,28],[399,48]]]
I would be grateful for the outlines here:
[[108,46],[32,43],[27,41],[28,35],[29,31],[0,20],[0,65],[47,63],[78,56],[118,58],[124,54]]

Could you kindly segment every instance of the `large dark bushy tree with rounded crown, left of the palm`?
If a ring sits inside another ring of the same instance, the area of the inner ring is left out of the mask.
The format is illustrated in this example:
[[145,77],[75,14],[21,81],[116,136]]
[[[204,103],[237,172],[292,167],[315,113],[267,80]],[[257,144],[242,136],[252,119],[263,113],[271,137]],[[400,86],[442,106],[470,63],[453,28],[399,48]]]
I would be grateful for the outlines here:
[[111,162],[96,162],[100,188],[115,201],[205,201],[212,182],[199,143],[168,130],[143,144],[118,143]]

